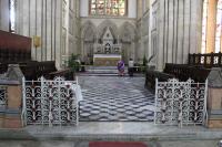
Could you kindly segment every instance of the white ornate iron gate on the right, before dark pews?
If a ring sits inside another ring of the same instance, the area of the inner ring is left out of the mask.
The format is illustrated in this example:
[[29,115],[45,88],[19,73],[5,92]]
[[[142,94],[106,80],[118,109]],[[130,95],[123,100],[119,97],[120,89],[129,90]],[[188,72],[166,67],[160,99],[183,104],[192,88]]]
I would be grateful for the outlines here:
[[155,113],[154,123],[165,125],[203,125],[206,120],[205,83],[194,83],[192,80],[179,82],[175,78],[168,82],[155,80]]

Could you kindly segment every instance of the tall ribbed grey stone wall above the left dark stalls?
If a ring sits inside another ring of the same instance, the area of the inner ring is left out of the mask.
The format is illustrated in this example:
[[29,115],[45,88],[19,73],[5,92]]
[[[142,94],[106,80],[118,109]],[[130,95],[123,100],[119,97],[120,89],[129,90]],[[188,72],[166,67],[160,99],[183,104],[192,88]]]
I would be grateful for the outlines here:
[[32,60],[56,61],[78,52],[79,0],[18,0],[16,32],[40,36],[40,46],[32,45]]

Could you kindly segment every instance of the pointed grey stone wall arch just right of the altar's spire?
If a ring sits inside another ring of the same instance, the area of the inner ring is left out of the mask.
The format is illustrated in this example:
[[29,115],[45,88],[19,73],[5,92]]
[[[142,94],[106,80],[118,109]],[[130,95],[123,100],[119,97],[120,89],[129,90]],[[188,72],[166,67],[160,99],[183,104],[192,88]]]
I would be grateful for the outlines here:
[[125,63],[128,63],[129,59],[135,59],[135,48],[134,48],[134,39],[135,39],[135,27],[130,22],[124,22],[120,28],[120,39],[122,43],[122,57]]

